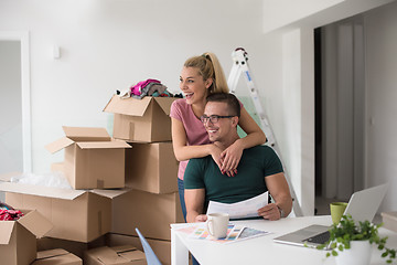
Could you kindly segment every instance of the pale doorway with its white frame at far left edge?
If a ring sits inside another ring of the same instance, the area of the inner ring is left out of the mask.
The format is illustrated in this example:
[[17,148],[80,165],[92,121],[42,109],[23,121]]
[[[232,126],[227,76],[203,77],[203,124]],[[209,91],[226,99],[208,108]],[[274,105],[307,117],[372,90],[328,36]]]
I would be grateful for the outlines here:
[[0,32],[0,174],[31,172],[28,32]]

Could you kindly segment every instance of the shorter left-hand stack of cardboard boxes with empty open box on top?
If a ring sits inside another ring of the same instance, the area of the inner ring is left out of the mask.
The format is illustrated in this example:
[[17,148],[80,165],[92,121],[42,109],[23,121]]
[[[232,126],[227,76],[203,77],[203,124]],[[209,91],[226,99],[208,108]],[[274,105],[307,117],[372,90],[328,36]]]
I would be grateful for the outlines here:
[[[53,169],[63,171],[74,189],[10,182],[2,182],[0,189],[7,192],[9,205],[35,210],[52,223],[46,237],[37,241],[39,251],[64,248],[83,257],[89,247],[104,245],[111,230],[111,200],[126,192],[120,190],[125,187],[125,149],[131,147],[112,140],[104,128],[63,129],[65,137],[46,148],[52,152],[64,149],[64,162]],[[67,257],[55,253],[57,258]]]

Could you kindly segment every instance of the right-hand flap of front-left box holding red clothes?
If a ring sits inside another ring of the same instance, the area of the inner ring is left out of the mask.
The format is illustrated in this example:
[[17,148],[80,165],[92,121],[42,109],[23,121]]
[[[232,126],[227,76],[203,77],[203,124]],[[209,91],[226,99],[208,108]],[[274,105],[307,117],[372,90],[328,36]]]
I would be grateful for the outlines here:
[[28,212],[19,219],[18,222],[39,239],[43,237],[54,226],[47,219],[35,210]]

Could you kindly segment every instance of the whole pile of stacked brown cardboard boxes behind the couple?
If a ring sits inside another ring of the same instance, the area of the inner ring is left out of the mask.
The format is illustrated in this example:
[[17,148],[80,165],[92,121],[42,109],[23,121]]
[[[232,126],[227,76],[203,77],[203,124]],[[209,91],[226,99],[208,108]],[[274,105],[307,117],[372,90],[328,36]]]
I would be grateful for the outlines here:
[[110,253],[104,246],[142,250],[138,227],[160,261],[171,263],[170,223],[183,222],[169,117],[174,99],[114,96],[104,109],[115,115],[112,138],[104,128],[63,127],[65,137],[46,149],[64,150],[52,170],[64,172],[72,190],[0,183],[8,204],[35,210],[53,224],[39,251],[63,248],[83,258],[97,247],[95,255]]

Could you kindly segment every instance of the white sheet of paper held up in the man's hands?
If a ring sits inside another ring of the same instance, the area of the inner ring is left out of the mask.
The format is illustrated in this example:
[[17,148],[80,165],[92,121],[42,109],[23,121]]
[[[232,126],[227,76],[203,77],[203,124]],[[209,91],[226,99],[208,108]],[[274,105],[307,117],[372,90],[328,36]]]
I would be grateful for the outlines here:
[[251,199],[235,202],[222,203],[210,201],[206,214],[223,212],[228,213],[230,219],[244,219],[258,216],[258,209],[268,204],[268,191]]

